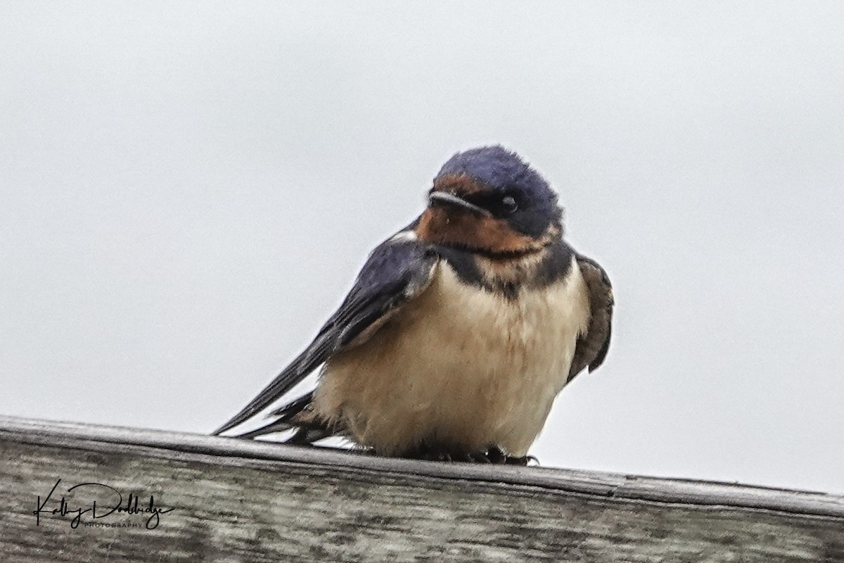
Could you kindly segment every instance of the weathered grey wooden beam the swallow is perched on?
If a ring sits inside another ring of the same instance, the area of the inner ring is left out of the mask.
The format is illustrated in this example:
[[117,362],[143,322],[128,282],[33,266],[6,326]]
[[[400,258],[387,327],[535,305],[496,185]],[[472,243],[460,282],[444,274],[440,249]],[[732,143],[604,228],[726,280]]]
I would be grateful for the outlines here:
[[[838,495],[9,417],[0,448],[3,561],[844,561]],[[72,528],[118,498],[83,483],[170,512]]]

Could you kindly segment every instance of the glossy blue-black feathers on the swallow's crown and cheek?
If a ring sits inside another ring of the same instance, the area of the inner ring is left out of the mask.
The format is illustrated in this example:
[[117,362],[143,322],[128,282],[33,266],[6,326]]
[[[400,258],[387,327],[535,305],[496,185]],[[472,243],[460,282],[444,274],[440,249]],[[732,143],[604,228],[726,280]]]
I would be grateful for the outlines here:
[[[481,203],[485,198],[494,212],[507,215],[507,222],[518,232],[538,237],[551,225],[561,228],[556,193],[518,154],[500,145],[457,153],[442,166],[434,185],[459,177],[468,177],[486,192],[484,197],[469,196],[470,201]],[[506,198],[515,203],[513,211]]]

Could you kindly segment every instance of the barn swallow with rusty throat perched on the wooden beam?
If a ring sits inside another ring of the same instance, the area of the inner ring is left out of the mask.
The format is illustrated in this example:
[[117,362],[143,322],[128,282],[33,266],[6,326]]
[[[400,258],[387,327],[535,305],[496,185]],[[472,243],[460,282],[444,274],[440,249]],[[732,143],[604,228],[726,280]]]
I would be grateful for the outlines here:
[[241,437],[294,430],[296,444],[343,436],[382,456],[526,463],[557,394],[607,355],[613,306],[533,167],[500,146],[457,153],[305,351],[214,434],[322,366],[313,391]]

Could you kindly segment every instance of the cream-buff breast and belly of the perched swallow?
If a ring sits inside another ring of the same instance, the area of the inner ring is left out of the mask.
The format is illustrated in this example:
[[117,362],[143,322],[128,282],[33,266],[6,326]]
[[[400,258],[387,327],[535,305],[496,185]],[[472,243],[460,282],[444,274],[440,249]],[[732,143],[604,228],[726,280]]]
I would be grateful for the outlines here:
[[316,409],[383,455],[425,442],[527,453],[566,378],[589,302],[577,263],[565,280],[506,300],[441,262],[430,287],[368,341],[329,360]]

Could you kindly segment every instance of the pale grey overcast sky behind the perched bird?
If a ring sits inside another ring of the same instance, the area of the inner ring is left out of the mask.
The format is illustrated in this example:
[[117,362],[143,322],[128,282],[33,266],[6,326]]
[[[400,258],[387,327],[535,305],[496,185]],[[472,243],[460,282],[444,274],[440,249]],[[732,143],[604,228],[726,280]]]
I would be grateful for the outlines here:
[[0,414],[208,432],[485,143],[614,342],[544,465],[844,492],[844,3],[0,3]]

